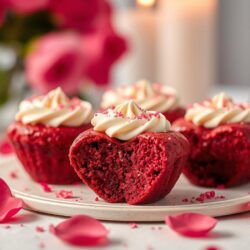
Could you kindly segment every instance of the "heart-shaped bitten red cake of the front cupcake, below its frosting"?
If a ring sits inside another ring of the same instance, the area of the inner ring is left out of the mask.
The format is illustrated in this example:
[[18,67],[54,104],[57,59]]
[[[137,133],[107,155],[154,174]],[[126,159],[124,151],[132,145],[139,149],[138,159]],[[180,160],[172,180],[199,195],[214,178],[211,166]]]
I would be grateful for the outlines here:
[[89,129],[70,148],[70,162],[82,181],[108,202],[144,204],[166,196],[189,152],[183,135],[147,132],[120,141]]

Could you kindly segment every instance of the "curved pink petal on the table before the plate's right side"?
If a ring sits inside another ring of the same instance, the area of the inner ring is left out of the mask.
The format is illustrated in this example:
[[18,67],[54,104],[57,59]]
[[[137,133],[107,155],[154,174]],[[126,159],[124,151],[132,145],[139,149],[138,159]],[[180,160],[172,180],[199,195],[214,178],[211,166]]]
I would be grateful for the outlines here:
[[217,224],[216,219],[198,213],[167,216],[165,222],[175,232],[189,237],[205,236]]

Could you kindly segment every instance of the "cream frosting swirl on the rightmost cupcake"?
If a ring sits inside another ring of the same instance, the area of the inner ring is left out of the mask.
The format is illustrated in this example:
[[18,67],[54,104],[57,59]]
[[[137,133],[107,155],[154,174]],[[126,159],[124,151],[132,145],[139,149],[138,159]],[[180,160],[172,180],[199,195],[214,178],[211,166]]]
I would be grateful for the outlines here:
[[250,104],[236,104],[225,93],[220,93],[211,100],[195,103],[187,110],[185,119],[205,128],[229,123],[250,123]]

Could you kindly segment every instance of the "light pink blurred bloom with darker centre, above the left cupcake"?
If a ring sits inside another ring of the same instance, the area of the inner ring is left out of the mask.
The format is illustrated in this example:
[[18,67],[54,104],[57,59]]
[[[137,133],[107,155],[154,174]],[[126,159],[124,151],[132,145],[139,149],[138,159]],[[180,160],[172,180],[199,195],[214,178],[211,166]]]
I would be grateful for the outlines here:
[[61,86],[67,94],[75,94],[83,68],[82,42],[75,33],[45,35],[26,59],[28,82],[41,93]]

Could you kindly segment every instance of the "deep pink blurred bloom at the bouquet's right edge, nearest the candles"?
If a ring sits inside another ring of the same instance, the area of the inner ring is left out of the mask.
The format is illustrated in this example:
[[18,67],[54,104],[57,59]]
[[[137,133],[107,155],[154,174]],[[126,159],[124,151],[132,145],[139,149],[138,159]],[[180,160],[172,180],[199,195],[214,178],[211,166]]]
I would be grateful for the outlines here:
[[126,52],[127,43],[111,28],[83,37],[84,54],[88,58],[84,74],[97,84],[110,81],[112,65]]

